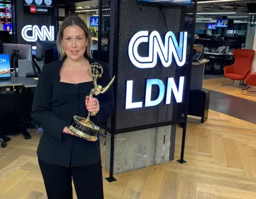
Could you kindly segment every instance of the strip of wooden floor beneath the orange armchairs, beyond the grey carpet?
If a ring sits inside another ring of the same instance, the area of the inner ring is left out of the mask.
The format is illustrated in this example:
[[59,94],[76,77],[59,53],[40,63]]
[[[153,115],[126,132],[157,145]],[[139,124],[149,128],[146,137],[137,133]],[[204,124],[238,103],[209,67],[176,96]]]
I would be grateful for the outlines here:
[[[239,85],[239,81],[235,81],[234,85],[226,85],[226,86],[221,87],[223,80],[224,80],[224,78],[214,78],[214,79],[204,80],[203,87],[204,87],[204,89],[209,89],[209,90],[217,91],[217,92],[223,92],[225,94],[230,94],[232,96],[237,96],[239,98],[256,101],[256,98],[255,98],[256,92],[244,91],[244,94],[250,94],[250,95],[255,95],[255,96],[246,96],[246,95],[241,94],[242,85]],[[232,80],[229,80],[226,78],[225,84],[232,84]],[[256,91],[256,89],[252,88],[252,87],[250,87],[250,90]]]

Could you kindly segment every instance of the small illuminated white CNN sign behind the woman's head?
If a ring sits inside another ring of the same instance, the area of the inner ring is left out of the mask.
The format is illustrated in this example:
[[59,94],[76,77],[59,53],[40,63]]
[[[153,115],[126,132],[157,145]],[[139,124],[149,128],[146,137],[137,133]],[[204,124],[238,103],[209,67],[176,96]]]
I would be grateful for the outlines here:
[[[31,36],[28,35],[28,31],[31,31]],[[54,26],[42,26],[41,29],[38,26],[28,25],[22,28],[22,38],[26,41],[34,42],[39,40],[45,41],[46,38],[49,41],[54,41]]]

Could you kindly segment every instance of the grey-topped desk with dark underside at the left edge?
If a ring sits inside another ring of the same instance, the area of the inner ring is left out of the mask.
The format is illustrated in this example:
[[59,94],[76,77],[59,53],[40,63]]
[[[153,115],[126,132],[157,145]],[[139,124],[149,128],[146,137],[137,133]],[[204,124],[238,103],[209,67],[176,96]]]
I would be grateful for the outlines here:
[[[33,103],[32,88],[36,85],[37,80],[32,77],[12,77],[10,80],[0,81],[0,101],[2,103],[0,122],[4,126],[0,129],[1,134],[21,133],[25,139],[31,138],[27,128]],[[1,131],[6,131],[6,133]]]

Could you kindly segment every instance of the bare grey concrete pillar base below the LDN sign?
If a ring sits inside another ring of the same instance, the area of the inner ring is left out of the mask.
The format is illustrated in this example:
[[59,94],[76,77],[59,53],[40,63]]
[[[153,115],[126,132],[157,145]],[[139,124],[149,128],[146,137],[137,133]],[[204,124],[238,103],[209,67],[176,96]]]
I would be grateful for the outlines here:
[[[176,126],[143,129],[115,135],[114,174],[158,165],[174,159]],[[111,135],[106,139],[109,170]]]

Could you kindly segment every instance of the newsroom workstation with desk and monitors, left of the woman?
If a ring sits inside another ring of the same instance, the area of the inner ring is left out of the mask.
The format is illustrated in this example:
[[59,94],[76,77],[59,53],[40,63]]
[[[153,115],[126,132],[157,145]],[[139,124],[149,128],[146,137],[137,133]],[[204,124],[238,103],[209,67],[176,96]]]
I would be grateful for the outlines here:
[[30,116],[33,92],[44,64],[59,59],[56,41],[36,41],[36,50],[31,45],[5,43],[0,59],[0,135],[15,132],[29,139],[27,129],[36,127]]

